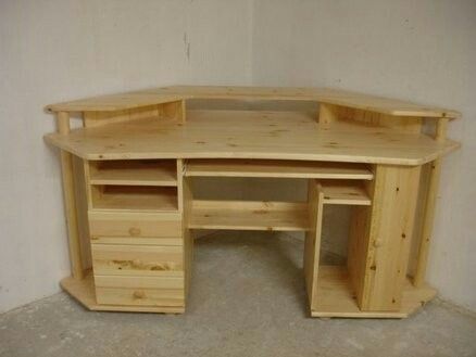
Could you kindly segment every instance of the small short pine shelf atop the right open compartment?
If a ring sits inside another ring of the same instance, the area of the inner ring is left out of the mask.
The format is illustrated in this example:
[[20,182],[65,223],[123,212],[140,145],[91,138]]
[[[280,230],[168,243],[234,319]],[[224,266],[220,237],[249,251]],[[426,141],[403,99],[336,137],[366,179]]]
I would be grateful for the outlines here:
[[324,204],[369,206],[372,200],[359,183],[325,181],[322,182]]

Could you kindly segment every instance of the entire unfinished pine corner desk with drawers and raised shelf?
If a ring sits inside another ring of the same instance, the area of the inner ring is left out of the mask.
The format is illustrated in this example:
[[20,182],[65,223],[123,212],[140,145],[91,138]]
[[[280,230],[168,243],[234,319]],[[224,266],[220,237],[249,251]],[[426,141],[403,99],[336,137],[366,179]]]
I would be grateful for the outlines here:
[[[280,110],[188,107],[198,99]],[[283,110],[298,101],[318,111]],[[47,111],[58,118],[45,138],[61,149],[72,263],[61,285],[89,309],[184,313],[193,229],[304,231],[314,317],[403,318],[436,294],[425,270],[441,157],[459,148],[446,138],[458,112],[251,87],[166,87]],[[83,127],[71,129],[71,113]],[[308,200],[198,200],[195,177],[305,179]],[[346,266],[320,264],[327,205],[353,206]]]

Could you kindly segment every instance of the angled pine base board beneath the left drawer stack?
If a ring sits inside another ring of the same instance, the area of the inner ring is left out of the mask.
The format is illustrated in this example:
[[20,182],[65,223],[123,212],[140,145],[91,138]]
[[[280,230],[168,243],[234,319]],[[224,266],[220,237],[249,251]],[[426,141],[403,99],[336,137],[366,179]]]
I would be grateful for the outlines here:
[[184,306],[134,306],[134,305],[100,305],[96,301],[95,281],[91,273],[84,279],[65,278],[60,282],[68,294],[90,310],[98,311],[130,311],[130,313],[166,313],[183,314]]

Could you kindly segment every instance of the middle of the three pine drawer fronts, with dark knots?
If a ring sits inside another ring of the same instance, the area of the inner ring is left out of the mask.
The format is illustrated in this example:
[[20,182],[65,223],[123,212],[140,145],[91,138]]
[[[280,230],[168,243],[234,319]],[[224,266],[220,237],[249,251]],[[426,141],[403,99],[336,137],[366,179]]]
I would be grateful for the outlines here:
[[184,276],[181,246],[91,244],[95,275]]

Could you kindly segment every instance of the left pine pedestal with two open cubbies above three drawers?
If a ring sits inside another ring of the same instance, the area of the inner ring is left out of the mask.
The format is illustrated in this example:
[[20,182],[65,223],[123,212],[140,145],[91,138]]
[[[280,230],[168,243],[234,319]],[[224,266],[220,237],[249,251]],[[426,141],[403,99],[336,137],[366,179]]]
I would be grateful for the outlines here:
[[177,161],[88,162],[88,220],[100,305],[185,306]]

